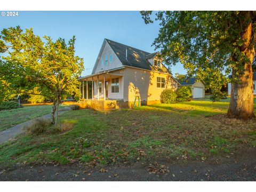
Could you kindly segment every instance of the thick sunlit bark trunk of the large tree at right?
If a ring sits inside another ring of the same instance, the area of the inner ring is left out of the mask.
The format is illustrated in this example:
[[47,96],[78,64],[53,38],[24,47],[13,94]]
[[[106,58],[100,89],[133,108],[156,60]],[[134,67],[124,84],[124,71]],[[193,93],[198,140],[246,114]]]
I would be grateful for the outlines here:
[[241,119],[251,119],[255,117],[253,113],[252,83],[252,62],[255,55],[255,50],[254,38],[252,35],[252,22],[250,22],[244,27],[242,34],[244,44],[239,47],[240,51],[244,53],[249,60],[243,63],[243,74],[236,75],[237,70],[233,69],[232,71],[232,77],[237,77],[238,81],[231,83],[230,104],[228,109],[229,117]]

